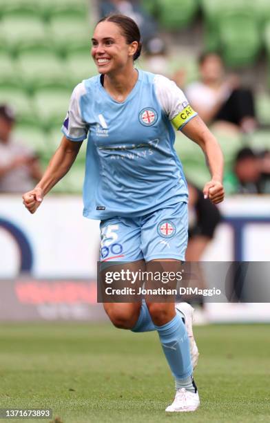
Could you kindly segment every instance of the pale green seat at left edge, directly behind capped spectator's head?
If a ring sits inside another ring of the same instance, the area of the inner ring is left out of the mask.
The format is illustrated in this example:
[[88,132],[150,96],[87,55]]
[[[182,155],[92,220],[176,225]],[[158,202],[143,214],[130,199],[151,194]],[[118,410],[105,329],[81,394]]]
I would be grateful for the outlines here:
[[17,119],[32,120],[33,106],[30,98],[21,86],[0,85],[0,103],[12,106],[17,113]]

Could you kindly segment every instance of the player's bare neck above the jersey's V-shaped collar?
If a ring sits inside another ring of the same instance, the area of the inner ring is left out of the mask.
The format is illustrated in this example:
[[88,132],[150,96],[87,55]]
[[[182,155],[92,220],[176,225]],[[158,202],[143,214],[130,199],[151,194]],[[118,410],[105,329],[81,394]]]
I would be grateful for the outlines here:
[[104,88],[116,101],[123,102],[134,88],[137,80],[138,71],[132,68],[131,72],[105,75]]

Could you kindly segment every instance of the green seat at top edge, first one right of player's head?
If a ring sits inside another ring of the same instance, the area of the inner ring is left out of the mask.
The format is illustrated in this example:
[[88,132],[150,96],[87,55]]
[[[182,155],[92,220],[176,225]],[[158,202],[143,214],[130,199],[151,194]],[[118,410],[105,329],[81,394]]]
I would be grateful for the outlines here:
[[162,0],[158,3],[160,25],[170,31],[179,30],[191,23],[198,10],[197,0]]

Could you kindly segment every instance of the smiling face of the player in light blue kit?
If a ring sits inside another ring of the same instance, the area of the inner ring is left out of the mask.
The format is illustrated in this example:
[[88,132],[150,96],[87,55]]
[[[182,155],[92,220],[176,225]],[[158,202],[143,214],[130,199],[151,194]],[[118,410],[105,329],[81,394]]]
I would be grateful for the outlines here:
[[99,73],[114,73],[133,66],[137,48],[137,41],[127,44],[120,26],[114,22],[100,22],[94,30],[91,54]]

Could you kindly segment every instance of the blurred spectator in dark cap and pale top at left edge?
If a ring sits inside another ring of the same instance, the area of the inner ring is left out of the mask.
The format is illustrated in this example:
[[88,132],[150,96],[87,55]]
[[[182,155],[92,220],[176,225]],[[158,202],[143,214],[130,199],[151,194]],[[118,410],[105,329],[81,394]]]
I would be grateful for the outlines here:
[[25,192],[33,180],[40,180],[41,169],[34,152],[12,136],[15,118],[8,106],[0,106],[0,192]]

